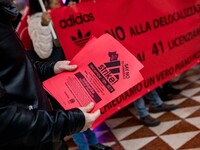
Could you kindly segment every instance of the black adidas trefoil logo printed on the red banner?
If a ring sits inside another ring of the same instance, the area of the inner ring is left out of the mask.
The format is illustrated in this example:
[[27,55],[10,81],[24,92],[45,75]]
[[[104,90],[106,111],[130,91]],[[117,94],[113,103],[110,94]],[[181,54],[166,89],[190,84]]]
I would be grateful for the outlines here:
[[72,41],[76,46],[83,47],[90,39],[91,32],[88,31],[84,36],[82,35],[81,31],[78,29],[78,37],[71,36]]

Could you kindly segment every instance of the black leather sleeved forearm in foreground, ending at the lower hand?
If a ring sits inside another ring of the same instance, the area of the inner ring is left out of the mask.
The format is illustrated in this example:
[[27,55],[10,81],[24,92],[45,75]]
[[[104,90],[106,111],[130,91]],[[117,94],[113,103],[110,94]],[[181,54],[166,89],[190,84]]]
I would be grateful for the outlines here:
[[79,109],[48,113],[1,103],[0,122],[0,146],[34,146],[80,131],[85,117]]

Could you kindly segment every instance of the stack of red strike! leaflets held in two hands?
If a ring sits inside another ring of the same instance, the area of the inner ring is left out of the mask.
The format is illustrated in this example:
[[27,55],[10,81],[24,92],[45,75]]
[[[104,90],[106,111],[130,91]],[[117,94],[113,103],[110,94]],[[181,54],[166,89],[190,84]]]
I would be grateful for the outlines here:
[[109,34],[92,38],[72,59],[74,72],[64,72],[43,82],[64,109],[95,103],[93,111],[143,80],[143,65]]

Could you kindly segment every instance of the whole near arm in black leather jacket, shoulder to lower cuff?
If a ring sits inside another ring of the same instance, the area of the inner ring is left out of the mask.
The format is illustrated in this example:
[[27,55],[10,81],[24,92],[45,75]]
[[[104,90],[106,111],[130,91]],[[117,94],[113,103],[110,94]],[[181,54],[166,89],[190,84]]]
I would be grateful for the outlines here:
[[45,91],[22,43],[13,29],[1,22],[0,41],[0,147],[38,145],[80,131],[85,124],[80,109],[46,110]]

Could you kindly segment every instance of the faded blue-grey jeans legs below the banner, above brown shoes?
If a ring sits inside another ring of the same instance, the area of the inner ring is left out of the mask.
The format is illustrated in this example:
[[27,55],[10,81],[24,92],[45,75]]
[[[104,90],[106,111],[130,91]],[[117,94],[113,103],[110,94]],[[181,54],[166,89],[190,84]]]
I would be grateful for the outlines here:
[[[144,97],[149,100],[149,103],[152,107],[157,107],[163,104],[163,101],[161,100],[156,90],[147,93],[146,95],[144,95]],[[145,106],[143,97],[134,101],[134,105],[140,118],[146,117],[149,114]]]

